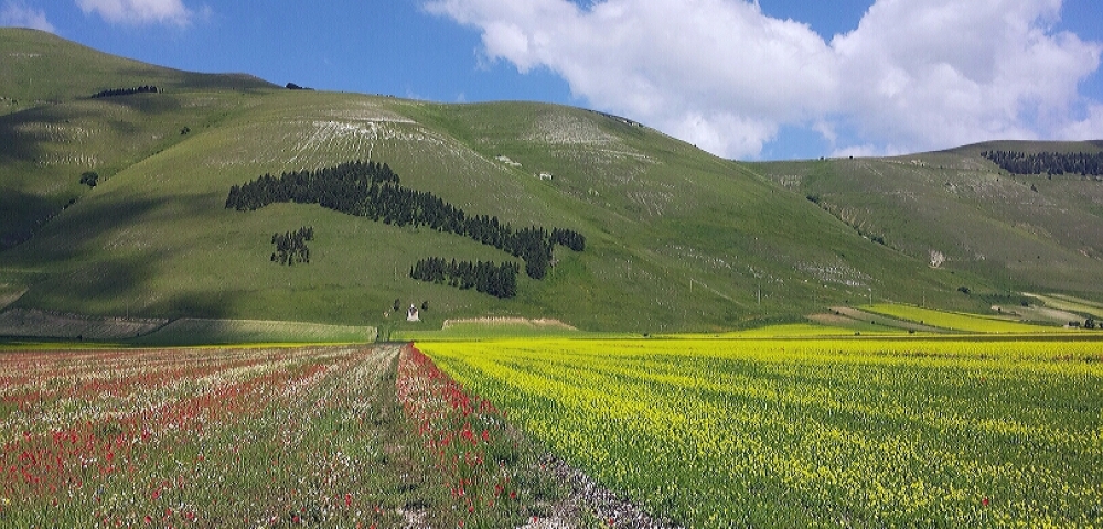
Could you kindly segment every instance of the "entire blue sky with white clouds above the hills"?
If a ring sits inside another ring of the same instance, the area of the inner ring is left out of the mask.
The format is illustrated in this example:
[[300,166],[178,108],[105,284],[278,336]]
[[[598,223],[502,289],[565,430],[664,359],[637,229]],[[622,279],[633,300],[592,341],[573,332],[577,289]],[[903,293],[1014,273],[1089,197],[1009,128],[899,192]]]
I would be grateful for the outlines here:
[[1103,139],[1099,0],[0,0],[180,69],[617,114],[738,160]]

